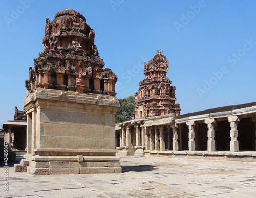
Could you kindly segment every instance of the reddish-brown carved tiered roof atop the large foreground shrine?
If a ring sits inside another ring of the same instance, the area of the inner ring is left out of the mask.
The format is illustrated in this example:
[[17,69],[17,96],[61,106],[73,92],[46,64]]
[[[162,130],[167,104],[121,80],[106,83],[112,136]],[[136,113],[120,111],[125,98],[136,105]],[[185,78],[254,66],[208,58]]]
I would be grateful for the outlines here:
[[52,22],[46,18],[45,49],[34,59],[25,81],[28,95],[40,87],[115,96],[117,75],[103,69],[94,37],[86,18],[74,10],[57,12]]

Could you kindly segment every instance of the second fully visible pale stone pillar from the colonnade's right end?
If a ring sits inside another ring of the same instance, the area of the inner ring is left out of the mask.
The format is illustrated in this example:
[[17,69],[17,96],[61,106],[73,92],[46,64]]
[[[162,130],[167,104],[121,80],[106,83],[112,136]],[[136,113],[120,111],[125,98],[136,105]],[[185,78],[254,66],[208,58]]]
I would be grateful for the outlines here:
[[207,141],[207,151],[216,151],[215,148],[215,131],[214,126],[216,124],[216,121],[214,118],[205,119],[204,123],[208,126],[208,141]]

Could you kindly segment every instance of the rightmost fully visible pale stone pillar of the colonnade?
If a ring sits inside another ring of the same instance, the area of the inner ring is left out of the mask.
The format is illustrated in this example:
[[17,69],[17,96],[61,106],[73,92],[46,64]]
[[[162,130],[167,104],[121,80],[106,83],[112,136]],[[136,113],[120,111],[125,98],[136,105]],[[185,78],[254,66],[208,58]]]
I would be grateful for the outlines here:
[[240,118],[238,116],[230,116],[228,117],[228,122],[230,122],[230,151],[231,152],[238,152],[239,146],[238,146],[238,122],[240,121]]

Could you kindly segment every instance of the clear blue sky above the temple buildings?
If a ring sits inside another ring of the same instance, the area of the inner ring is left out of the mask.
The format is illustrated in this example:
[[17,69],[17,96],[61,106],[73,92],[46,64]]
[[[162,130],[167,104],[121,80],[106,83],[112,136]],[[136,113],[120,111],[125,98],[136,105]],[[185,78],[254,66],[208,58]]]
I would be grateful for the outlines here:
[[161,48],[181,114],[255,101],[256,1],[1,1],[0,127],[23,108],[45,19],[68,8],[94,28],[118,98],[134,95],[143,62]]

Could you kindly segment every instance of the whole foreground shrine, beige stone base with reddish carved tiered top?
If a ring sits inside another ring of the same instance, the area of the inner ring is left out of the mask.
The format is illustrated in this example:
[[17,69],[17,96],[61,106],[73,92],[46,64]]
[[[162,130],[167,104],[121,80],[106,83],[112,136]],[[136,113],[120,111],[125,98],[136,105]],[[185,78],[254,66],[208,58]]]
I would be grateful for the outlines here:
[[117,75],[104,68],[95,32],[67,9],[47,18],[45,48],[25,81],[27,154],[15,171],[31,174],[121,172],[115,154]]

